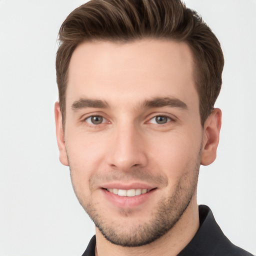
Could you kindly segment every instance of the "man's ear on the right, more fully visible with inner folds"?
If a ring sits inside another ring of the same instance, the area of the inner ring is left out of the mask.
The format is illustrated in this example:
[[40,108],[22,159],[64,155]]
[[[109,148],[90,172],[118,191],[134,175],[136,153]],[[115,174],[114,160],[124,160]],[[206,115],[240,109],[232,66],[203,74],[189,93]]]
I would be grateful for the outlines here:
[[204,122],[201,164],[208,165],[216,158],[216,151],[221,127],[221,110],[214,108]]

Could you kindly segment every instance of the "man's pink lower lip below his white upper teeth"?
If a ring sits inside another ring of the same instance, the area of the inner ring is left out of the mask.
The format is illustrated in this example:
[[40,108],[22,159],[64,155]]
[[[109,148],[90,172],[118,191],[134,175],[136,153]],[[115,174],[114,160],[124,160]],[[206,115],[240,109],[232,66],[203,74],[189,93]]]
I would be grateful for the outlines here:
[[147,193],[135,195],[135,196],[120,196],[107,191],[106,189],[101,189],[104,196],[108,201],[120,208],[132,208],[145,203],[149,197],[155,192],[156,189],[152,189]]

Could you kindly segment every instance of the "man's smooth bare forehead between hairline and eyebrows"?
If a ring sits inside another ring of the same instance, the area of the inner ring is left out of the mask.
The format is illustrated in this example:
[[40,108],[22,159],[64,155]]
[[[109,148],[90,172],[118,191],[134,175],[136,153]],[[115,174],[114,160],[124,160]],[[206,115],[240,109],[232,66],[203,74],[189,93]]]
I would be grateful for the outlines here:
[[96,97],[111,103],[171,96],[198,103],[193,66],[185,42],[83,42],[70,59],[66,100]]

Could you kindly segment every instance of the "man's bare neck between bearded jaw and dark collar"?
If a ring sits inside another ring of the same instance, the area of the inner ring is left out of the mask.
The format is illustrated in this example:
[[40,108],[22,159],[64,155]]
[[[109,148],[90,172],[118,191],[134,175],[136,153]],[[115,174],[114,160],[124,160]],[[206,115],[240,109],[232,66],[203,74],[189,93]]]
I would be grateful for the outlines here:
[[177,255],[193,238],[199,227],[198,206],[195,196],[192,197],[186,210],[175,225],[155,241],[138,246],[123,247],[107,241],[96,228],[96,256],[174,256]]

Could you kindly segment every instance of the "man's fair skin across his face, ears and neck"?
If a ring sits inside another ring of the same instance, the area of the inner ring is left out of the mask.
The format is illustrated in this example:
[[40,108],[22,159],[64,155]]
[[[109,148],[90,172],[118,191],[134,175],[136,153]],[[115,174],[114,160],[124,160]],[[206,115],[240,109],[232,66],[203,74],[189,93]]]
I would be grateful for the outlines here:
[[[201,126],[193,66],[188,45],[170,40],[74,50],[64,131],[55,103],[56,135],[59,159],[96,224],[96,255],[176,255],[197,231],[198,170],[216,157],[221,111]],[[152,190],[138,200],[105,190],[143,186]]]

